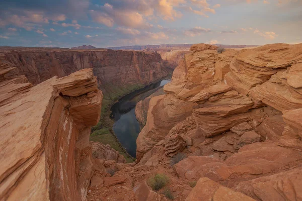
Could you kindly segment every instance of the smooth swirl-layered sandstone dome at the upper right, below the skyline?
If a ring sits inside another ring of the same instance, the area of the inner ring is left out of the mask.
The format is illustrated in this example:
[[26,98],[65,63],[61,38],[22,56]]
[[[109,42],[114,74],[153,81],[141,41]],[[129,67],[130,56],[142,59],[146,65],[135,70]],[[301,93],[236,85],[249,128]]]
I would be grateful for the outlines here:
[[226,83],[248,94],[252,87],[269,80],[278,70],[301,61],[301,52],[301,44],[270,44],[242,50],[231,62]]

